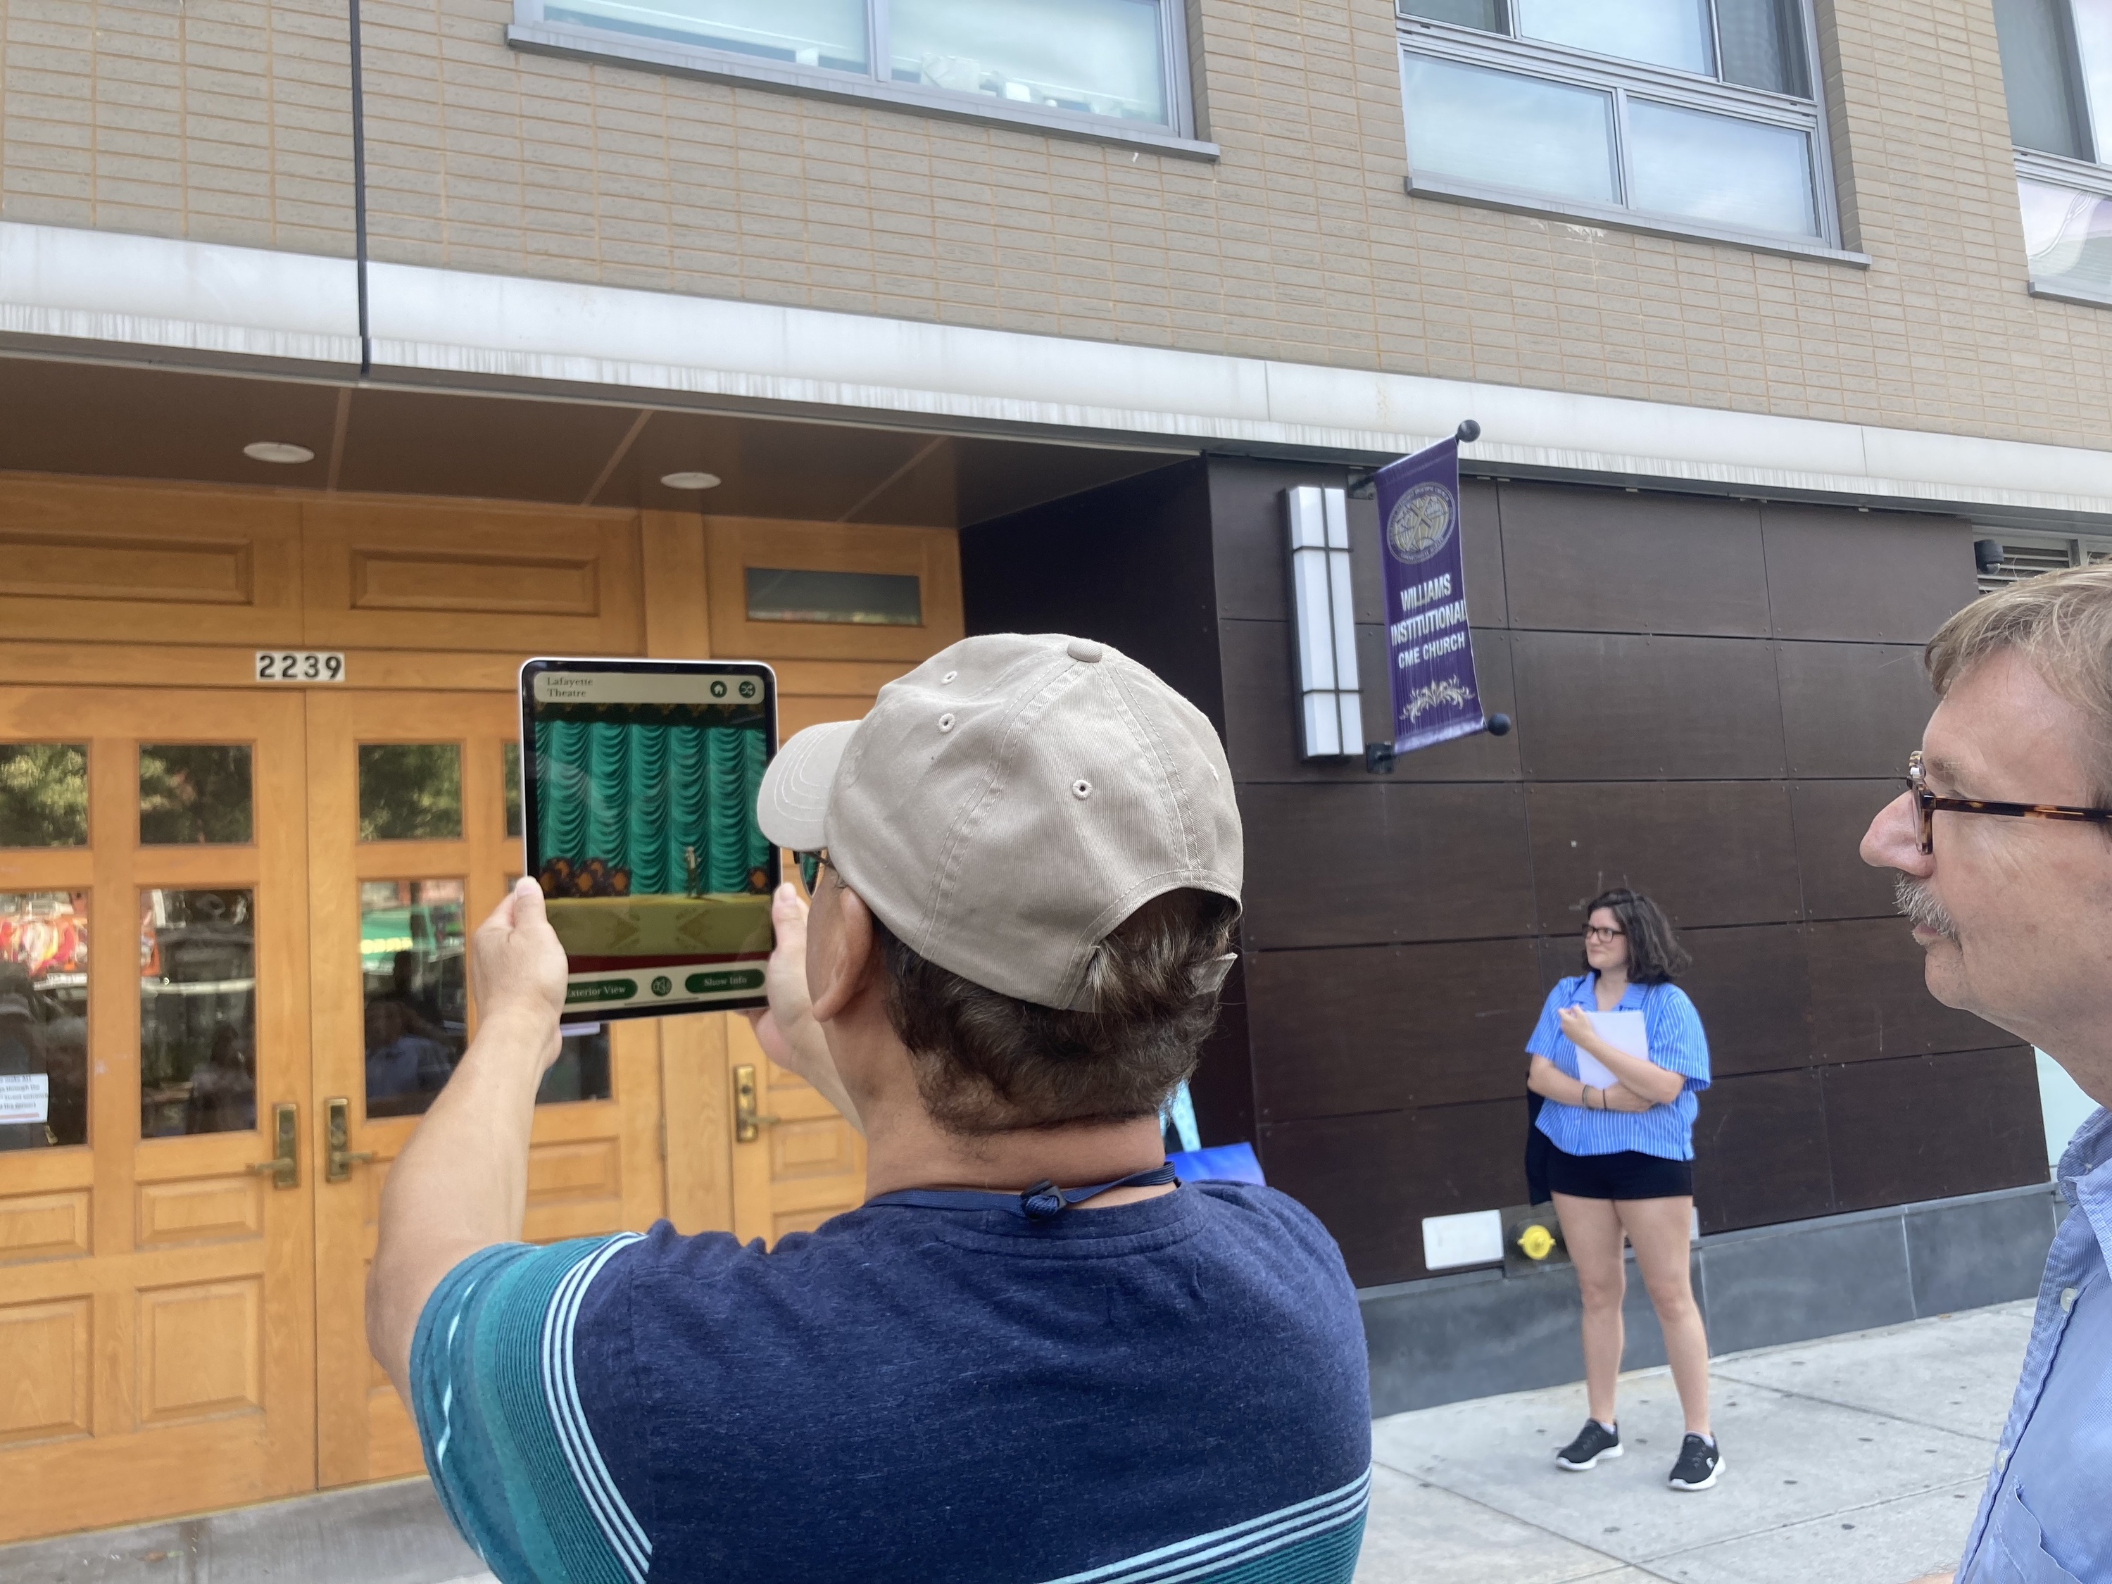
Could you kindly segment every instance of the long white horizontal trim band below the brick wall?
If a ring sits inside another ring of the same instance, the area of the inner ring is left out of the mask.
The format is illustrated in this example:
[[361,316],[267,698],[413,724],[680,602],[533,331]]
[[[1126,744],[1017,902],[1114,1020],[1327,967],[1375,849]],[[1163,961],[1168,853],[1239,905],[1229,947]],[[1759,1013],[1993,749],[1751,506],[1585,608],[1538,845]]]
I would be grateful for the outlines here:
[[[1483,467],[2112,520],[2112,452],[2080,446],[412,264],[372,264],[367,291],[378,378],[1364,456],[1415,450],[1472,416],[1485,439],[1462,456]],[[0,332],[99,355],[165,346],[353,367],[359,355],[348,260],[15,222],[0,222]]]

